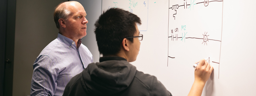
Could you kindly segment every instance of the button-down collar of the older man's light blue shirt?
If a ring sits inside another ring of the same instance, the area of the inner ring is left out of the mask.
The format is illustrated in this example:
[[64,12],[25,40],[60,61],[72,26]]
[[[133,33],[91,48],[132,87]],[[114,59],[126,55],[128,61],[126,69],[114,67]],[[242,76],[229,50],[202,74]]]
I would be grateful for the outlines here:
[[[76,45],[75,41],[73,41],[72,39],[70,39],[66,36],[61,35],[60,33],[58,33],[57,39],[65,44],[67,44],[68,46]],[[82,43],[82,38],[78,40],[78,44],[81,44],[81,43]],[[77,47],[79,48],[79,46],[77,46]]]

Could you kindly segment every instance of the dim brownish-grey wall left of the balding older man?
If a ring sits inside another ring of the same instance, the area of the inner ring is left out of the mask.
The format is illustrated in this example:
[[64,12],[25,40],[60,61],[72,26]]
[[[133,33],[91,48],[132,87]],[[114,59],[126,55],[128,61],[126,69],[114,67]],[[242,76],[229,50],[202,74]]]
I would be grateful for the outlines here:
[[53,21],[54,7],[67,0],[17,0],[13,96],[29,96],[33,63],[59,30]]

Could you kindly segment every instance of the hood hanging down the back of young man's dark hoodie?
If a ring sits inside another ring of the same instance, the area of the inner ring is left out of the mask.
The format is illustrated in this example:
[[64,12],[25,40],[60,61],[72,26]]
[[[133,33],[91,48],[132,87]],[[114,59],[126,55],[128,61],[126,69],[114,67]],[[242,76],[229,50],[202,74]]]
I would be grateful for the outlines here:
[[110,95],[123,91],[131,84],[136,67],[122,57],[101,57],[82,72],[84,91],[91,95]]

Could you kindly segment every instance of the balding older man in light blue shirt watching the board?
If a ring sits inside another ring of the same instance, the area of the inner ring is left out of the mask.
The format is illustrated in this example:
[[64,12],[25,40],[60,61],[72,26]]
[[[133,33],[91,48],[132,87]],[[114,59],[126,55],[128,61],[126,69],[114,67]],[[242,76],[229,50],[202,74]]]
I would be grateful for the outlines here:
[[93,62],[82,44],[86,35],[84,7],[75,1],[59,4],[54,11],[58,37],[48,44],[33,64],[31,96],[62,96],[69,80]]

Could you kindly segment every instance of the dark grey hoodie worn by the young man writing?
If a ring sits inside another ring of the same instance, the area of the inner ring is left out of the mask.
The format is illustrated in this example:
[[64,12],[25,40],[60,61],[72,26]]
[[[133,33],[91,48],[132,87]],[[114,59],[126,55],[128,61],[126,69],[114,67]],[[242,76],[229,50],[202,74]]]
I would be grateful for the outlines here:
[[63,96],[172,96],[155,76],[121,57],[101,57],[67,84]]

